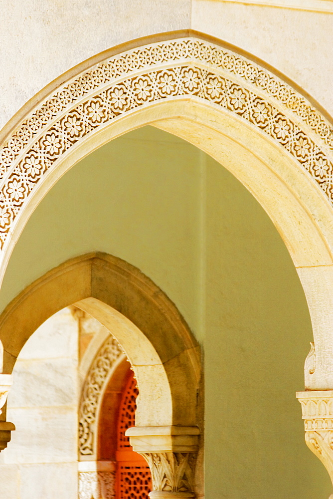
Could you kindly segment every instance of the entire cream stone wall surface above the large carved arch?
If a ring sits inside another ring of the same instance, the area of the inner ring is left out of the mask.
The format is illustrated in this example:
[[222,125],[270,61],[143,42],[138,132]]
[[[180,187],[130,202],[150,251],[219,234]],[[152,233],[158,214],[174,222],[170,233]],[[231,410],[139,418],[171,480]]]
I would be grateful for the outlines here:
[[[275,3],[281,5],[281,1]],[[298,3],[300,9],[296,5],[296,10],[291,10],[213,0],[164,0],[157,7],[151,0],[142,0],[138,15],[130,0],[93,1],[84,8],[75,1],[70,9],[66,2],[47,1],[40,7],[38,0],[25,1],[22,7],[10,4],[9,8],[6,0],[1,17],[1,46],[7,50],[1,53],[5,71],[1,71],[0,126],[51,80],[88,57],[134,38],[191,28],[272,64],[332,113],[328,90],[332,15],[305,11],[304,1]],[[317,0],[325,7],[330,3]],[[109,20],[115,18],[111,29]],[[38,37],[33,36],[35,29]],[[314,34],[317,43],[312,42]]]

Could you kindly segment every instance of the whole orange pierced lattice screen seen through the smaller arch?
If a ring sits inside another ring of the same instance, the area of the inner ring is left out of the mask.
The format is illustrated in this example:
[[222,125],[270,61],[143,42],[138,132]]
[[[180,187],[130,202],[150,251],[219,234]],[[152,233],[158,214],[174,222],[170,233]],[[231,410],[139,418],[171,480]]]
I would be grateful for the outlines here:
[[117,426],[116,499],[148,499],[152,490],[152,476],[146,461],[133,451],[125,436],[135,425],[136,398],[139,394],[133,372],[130,372],[123,391]]

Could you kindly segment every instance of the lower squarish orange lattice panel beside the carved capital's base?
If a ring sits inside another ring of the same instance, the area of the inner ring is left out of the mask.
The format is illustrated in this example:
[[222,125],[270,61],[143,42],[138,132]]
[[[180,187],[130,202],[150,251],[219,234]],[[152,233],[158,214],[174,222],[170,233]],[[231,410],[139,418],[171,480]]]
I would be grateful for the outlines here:
[[152,475],[149,466],[120,464],[119,499],[148,499],[152,490]]

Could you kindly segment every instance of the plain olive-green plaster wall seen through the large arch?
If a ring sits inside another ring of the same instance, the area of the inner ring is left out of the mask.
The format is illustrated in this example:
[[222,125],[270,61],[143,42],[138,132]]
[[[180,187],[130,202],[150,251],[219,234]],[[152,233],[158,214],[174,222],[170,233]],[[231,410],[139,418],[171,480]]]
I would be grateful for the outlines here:
[[191,145],[146,127],[70,170],[31,216],[0,308],[67,258],[106,251],[175,302],[204,349],[206,498],[328,498],[304,443],[312,339],[292,260],[247,190]]

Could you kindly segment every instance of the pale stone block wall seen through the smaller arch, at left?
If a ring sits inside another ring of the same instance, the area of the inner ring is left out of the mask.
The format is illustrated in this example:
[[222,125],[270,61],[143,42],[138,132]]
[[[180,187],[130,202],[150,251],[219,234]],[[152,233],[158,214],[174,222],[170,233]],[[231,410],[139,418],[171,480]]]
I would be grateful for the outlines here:
[[70,309],[24,345],[13,371],[0,454],[1,499],[77,498],[78,325]]

